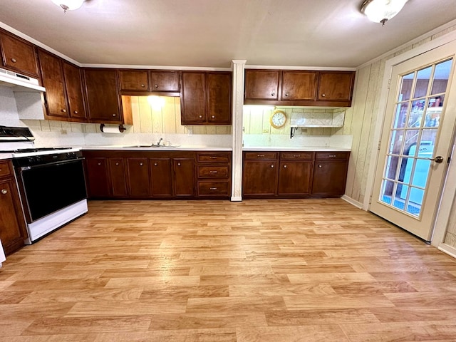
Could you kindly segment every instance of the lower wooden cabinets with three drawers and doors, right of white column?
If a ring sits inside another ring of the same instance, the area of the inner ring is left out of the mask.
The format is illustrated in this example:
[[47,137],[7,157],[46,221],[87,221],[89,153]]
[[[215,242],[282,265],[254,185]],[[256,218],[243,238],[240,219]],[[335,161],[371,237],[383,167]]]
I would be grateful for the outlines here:
[[350,152],[243,152],[242,196],[341,197]]

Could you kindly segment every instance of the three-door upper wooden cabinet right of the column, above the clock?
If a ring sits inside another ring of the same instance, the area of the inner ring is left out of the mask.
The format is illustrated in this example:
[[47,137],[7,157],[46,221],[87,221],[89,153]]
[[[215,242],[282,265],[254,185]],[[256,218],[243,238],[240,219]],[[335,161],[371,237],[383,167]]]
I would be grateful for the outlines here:
[[350,107],[354,71],[247,69],[244,104]]

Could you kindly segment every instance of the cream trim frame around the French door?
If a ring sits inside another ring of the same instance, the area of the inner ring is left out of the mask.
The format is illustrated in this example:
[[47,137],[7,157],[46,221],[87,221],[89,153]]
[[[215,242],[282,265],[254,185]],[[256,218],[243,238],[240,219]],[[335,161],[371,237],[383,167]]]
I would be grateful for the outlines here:
[[[371,149],[371,158],[369,160],[369,170],[368,170],[368,177],[366,182],[366,196],[364,197],[363,202],[363,210],[368,211],[371,207],[371,200],[373,195],[373,183],[375,177],[375,168],[378,162],[379,157],[379,147],[380,147],[380,138],[381,133],[383,130],[383,123],[385,120],[385,111],[386,111],[386,104],[388,100],[388,93],[391,91],[396,91],[396,89],[390,89],[390,83],[395,85],[395,81],[392,81],[391,75],[393,74],[394,66],[397,66],[400,63],[408,61],[411,58],[419,56],[422,53],[430,51],[434,48],[438,48],[439,46],[445,45],[446,43],[450,43],[451,41],[456,41],[456,30],[450,33],[445,34],[439,38],[435,38],[432,41],[424,43],[423,45],[417,46],[416,48],[411,49],[410,51],[406,51],[398,56],[388,59],[385,62],[385,71],[383,73],[383,83],[382,88],[380,91],[380,102],[378,103],[378,115],[375,123],[375,130],[373,133],[373,144]],[[454,138],[454,136],[453,136]],[[453,160],[450,163],[447,169],[447,175],[450,171],[455,171],[455,156],[452,156]],[[455,198],[456,195],[456,182],[452,182],[451,180],[446,180],[445,185],[443,185],[443,192],[440,197],[441,205],[439,212],[437,214],[437,218],[435,220],[435,231],[433,234],[431,244],[433,246],[438,247],[443,239],[445,238],[445,232],[447,229],[447,222],[450,217],[450,210],[452,207],[452,199]],[[445,202],[446,201],[446,202]],[[448,203],[449,202],[449,203]],[[438,223],[438,224],[437,224]]]

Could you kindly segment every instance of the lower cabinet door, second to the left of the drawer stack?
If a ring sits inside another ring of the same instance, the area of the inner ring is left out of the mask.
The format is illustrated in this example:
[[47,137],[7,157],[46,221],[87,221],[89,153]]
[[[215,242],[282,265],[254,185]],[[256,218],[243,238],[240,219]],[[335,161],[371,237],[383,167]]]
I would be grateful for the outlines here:
[[150,185],[153,197],[172,196],[172,169],[170,158],[151,158]]

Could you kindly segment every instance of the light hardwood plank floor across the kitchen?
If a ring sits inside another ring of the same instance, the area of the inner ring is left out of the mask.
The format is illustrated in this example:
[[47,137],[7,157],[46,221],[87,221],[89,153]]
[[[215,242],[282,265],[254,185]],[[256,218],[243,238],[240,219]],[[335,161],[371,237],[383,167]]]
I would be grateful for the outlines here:
[[94,201],[8,257],[0,341],[456,341],[456,260],[342,199]]

